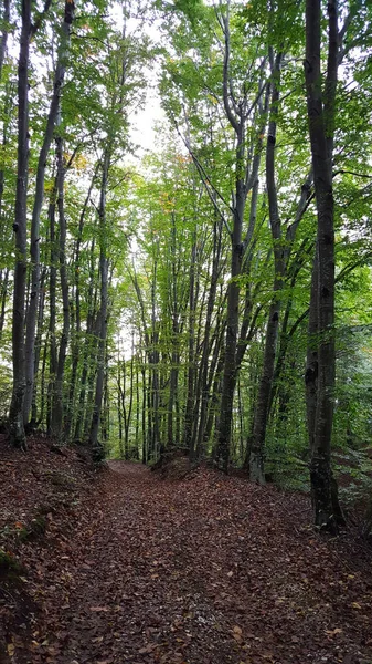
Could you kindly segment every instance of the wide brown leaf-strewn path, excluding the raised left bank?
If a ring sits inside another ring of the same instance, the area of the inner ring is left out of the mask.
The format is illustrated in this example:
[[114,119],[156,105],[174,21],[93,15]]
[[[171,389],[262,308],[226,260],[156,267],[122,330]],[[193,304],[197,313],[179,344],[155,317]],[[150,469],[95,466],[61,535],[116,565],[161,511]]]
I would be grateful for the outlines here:
[[371,663],[371,589],[313,536],[306,497],[109,466],[45,662]]

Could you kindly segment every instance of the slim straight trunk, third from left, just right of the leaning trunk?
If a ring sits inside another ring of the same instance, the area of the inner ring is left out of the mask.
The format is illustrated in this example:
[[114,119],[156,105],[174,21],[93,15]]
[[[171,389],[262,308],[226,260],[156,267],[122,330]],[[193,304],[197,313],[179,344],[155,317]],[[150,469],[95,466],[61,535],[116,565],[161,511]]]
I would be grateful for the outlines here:
[[70,334],[70,301],[68,301],[68,281],[66,270],[66,218],[64,210],[64,178],[65,168],[63,163],[63,141],[59,136],[56,139],[56,158],[57,158],[57,209],[59,209],[59,221],[60,221],[60,281],[62,291],[62,308],[63,308],[63,325],[62,334],[60,340],[59,361],[56,367],[56,376],[53,391],[53,405],[52,405],[52,435],[62,438],[63,437],[63,416],[64,416],[64,404],[63,404],[63,382],[64,371],[68,344]]

